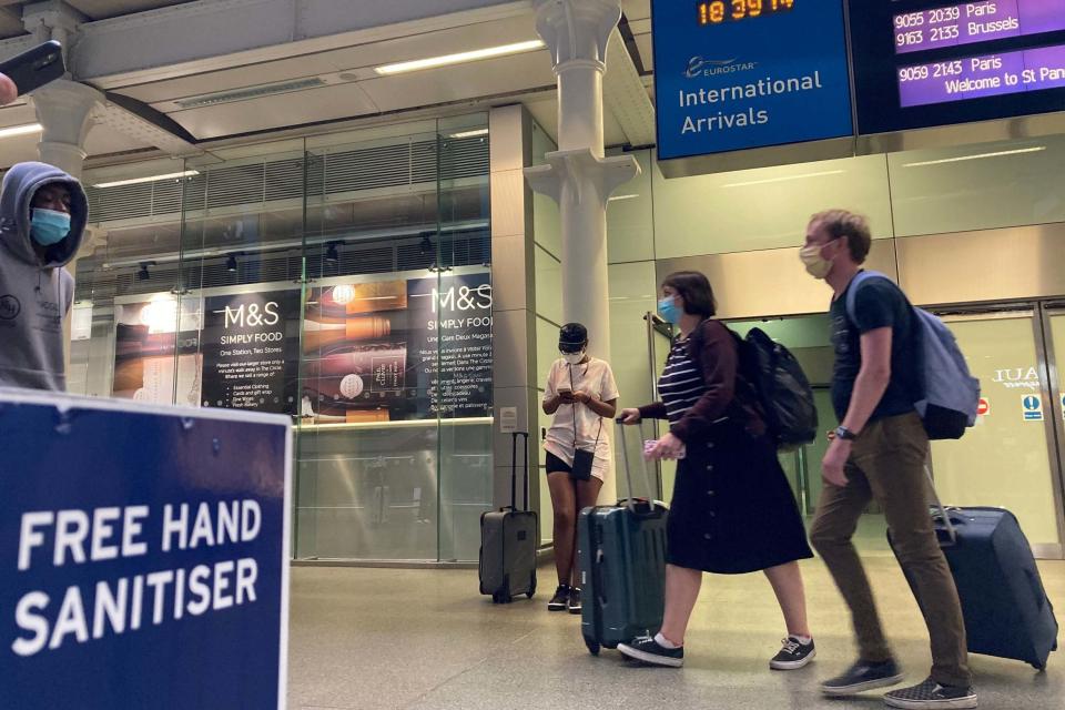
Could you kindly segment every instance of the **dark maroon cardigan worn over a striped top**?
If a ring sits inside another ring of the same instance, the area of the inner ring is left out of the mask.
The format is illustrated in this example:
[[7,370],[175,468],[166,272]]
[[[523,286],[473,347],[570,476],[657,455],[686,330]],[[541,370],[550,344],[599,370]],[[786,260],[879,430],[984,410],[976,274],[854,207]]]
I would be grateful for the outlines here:
[[[688,410],[670,433],[681,442],[706,437],[710,427],[722,417],[743,423],[748,432],[765,433],[765,422],[754,388],[740,368],[739,343],[732,332],[719,321],[707,318],[688,339],[688,356],[702,373],[706,393]],[[668,418],[661,402],[640,407],[640,416],[650,419]]]

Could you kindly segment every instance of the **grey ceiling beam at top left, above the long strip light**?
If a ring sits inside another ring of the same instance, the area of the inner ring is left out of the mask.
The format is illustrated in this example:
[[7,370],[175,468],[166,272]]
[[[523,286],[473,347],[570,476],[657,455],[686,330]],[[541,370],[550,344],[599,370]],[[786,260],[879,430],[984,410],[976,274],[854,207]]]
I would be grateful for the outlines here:
[[530,7],[529,0],[200,0],[82,24],[70,67],[75,79],[114,89],[526,14]]

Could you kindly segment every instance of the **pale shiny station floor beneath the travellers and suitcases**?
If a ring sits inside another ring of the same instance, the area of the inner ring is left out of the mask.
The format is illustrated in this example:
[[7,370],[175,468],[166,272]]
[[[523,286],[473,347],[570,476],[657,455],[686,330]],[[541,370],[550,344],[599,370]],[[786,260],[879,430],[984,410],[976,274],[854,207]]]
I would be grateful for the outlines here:
[[[927,636],[894,559],[871,551],[868,568],[907,680],[924,679]],[[532,601],[495,607],[475,571],[297,567],[292,574],[288,704],[295,709],[594,710],[598,708],[880,708],[869,698],[833,701],[818,681],[853,656],[850,623],[819,560],[803,564],[818,660],[771,672],[783,636],[760,575],[707,577],[681,670],[629,665],[585,650],[579,618],[545,610],[552,572],[540,570]],[[1065,609],[1065,562],[1043,565]],[[981,708],[1065,708],[1065,653],[1037,673],[973,657]]]

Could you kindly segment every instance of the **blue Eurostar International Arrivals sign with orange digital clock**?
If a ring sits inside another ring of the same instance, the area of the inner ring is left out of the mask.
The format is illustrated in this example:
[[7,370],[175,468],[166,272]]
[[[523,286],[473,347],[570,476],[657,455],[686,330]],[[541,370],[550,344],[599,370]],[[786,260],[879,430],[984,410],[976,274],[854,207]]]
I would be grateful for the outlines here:
[[661,160],[850,136],[842,0],[656,0]]

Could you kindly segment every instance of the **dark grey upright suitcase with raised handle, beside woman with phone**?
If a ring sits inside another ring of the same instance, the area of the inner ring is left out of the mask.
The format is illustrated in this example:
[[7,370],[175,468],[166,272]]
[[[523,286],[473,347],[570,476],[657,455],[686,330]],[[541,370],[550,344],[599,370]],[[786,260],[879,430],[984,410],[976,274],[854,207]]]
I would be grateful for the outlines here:
[[[519,510],[518,437],[525,440],[525,508]],[[536,548],[539,530],[536,511],[529,510],[529,435],[513,435],[510,505],[480,516],[480,594],[496,604],[536,594]]]

